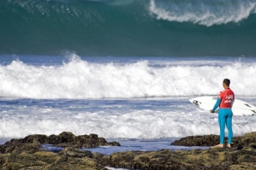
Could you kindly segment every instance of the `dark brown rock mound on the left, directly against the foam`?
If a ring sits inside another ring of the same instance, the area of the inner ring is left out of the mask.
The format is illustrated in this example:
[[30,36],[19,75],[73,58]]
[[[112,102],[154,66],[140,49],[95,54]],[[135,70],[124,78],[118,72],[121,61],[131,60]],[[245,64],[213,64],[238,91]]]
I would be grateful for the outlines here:
[[95,148],[99,146],[119,146],[117,142],[107,143],[105,138],[98,138],[96,134],[75,136],[71,132],[62,132],[59,135],[29,135],[21,139],[11,139],[0,146],[0,153],[11,153],[16,147],[37,151],[41,144],[52,144],[56,147]]

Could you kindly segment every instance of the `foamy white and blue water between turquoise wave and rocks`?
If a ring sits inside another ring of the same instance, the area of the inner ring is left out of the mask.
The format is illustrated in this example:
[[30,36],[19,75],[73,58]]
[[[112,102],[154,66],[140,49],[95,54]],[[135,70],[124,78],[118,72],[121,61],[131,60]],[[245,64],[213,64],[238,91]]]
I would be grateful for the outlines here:
[[[188,99],[216,96],[231,79],[236,98],[256,105],[256,59],[235,57],[0,56],[0,138],[96,133],[124,150],[191,149],[170,143],[219,134],[217,114]],[[256,131],[234,116],[234,135]]]

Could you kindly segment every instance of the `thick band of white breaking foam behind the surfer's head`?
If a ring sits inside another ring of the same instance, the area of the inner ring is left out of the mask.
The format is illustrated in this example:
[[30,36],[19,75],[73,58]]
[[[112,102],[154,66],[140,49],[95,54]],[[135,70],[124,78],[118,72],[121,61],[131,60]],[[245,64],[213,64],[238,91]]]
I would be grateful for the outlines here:
[[[86,62],[74,56],[60,66],[13,61],[0,66],[0,97],[129,98],[216,95],[231,79],[237,96],[256,96],[256,63],[156,65]],[[194,62],[192,62],[194,63]]]

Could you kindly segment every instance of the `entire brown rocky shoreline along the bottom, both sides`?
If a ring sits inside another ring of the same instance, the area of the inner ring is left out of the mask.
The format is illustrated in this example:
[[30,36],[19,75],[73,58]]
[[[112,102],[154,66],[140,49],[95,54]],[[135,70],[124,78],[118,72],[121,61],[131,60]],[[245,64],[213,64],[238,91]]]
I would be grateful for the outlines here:
[[[173,145],[212,146],[218,144],[217,135],[191,136],[174,141]],[[42,144],[63,147],[54,153],[42,149]],[[98,146],[119,146],[117,142],[107,143],[105,138],[95,134],[75,136],[71,132],[59,135],[29,135],[11,139],[0,145],[0,169],[96,169],[122,167],[142,170],[169,169],[256,169],[256,132],[235,137],[229,148],[192,150],[127,151],[103,155],[81,150]]]

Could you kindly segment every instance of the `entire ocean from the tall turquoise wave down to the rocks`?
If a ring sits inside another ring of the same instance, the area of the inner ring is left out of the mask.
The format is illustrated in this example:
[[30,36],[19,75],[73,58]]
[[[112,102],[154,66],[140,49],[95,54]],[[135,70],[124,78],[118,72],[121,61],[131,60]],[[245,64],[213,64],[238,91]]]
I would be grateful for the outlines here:
[[[256,0],[1,0],[0,144],[96,133],[124,150],[219,134],[188,99],[231,79],[256,105]],[[234,116],[235,136],[256,131]],[[201,147],[201,149],[204,149]]]

